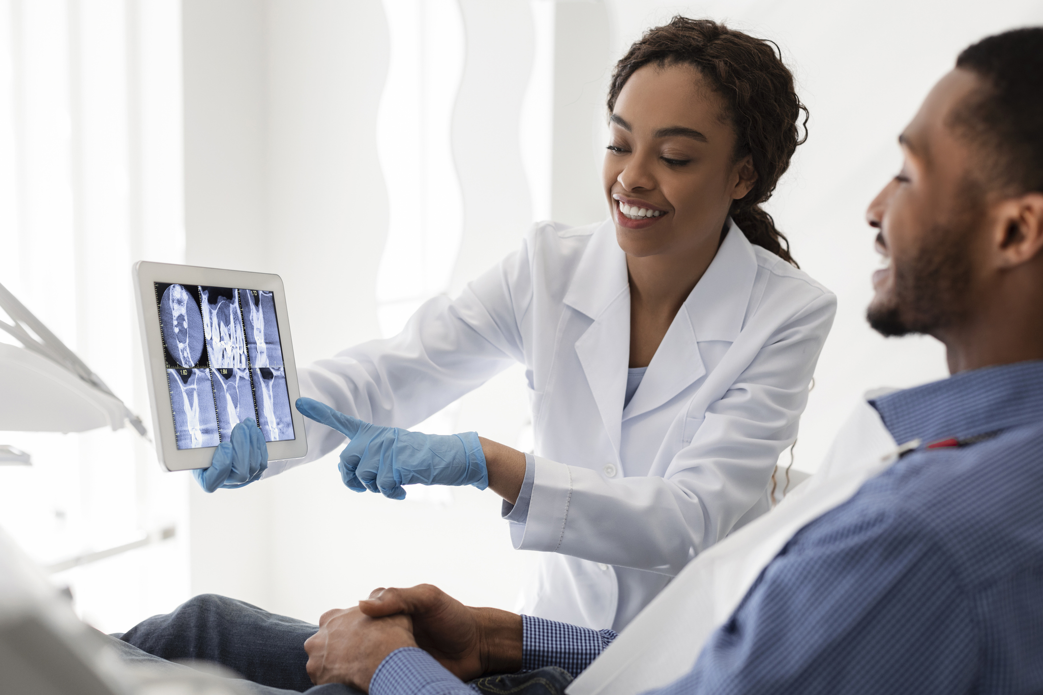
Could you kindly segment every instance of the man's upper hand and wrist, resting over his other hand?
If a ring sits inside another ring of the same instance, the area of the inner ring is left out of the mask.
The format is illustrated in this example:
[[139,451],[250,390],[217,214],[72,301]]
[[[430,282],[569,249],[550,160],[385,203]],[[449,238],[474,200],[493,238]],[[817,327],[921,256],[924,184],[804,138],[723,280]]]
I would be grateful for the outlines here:
[[522,670],[522,616],[466,606],[431,585],[378,589],[359,610],[372,618],[406,614],[413,638],[463,680]]

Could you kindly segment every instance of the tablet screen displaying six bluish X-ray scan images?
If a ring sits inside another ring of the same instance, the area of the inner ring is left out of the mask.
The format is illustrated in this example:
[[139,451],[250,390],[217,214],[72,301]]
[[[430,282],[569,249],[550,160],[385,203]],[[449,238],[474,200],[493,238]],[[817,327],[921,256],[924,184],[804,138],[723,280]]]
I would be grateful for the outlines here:
[[177,448],[227,442],[247,419],[294,439],[272,293],[154,284]]

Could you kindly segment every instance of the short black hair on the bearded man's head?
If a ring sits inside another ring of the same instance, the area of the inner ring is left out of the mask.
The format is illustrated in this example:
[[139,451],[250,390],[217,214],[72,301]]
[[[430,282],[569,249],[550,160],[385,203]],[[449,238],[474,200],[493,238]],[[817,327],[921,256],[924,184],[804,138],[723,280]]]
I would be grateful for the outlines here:
[[983,155],[979,181],[1010,195],[1043,192],[1043,27],[983,39],[964,49],[956,67],[985,81],[952,124]]

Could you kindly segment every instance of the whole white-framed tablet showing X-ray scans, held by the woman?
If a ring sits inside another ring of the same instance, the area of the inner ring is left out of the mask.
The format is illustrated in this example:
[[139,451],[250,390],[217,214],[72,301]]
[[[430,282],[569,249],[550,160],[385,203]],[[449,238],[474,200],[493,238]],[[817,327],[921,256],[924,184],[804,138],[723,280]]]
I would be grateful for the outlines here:
[[308,453],[278,275],[146,260],[134,275],[160,463],[207,468],[247,419],[269,461]]

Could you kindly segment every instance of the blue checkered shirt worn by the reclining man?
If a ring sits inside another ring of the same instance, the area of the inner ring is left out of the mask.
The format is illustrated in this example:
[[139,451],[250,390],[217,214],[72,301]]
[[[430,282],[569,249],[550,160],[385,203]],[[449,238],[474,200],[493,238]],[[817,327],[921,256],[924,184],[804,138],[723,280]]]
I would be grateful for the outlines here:
[[[923,444],[798,531],[656,695],[1043,693],[1043,363],[873,405],[897,442]],[[610,639],[525,624],[529,668],[583,666]],[[409,651],[406,668],[434,663]],[[382,676],[373,695],[470,693],[452,676],[396,690]]]

